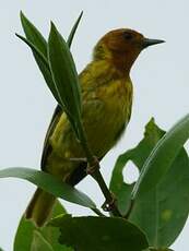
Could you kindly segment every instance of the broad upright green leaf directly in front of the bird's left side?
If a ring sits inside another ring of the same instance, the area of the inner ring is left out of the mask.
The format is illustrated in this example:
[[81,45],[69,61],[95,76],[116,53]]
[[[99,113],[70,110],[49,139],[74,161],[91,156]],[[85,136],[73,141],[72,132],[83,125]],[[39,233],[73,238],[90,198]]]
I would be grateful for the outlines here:
[[52,23],[48,40],[48,61],[61,106],[78,134],[76,124],[81,120],[79,77],[69,47]]

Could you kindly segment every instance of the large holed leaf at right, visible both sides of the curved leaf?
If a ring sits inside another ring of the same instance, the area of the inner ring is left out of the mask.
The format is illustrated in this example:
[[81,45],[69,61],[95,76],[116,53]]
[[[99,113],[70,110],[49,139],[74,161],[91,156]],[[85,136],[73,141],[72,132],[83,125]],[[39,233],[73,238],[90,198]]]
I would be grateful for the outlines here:
[[[151,120],[146,125],[144,139],[139,145],[118,158],[110,190],[116,194],[118,206],[123,214],[128,211],[133,184],[125,183],[122,170],[127,168],[129,160],[141,170],[154,145],[164,133]],[[184,150],[180,151],[161,182],[145,194],[139,194],[132,210],[129,219],[146,232],[151,246],[168,247],[175,241],[189,212],[189,159]]]

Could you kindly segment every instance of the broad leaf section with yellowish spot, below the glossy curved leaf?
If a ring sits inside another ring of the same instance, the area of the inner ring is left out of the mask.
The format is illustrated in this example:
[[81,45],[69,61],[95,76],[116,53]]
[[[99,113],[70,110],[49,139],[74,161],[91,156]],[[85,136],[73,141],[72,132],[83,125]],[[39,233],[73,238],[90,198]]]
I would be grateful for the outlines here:
[[145,230],[150,244],[169,247],[189,213],[189,159],[182,150],[156,188],[138,196],[130,220]]

